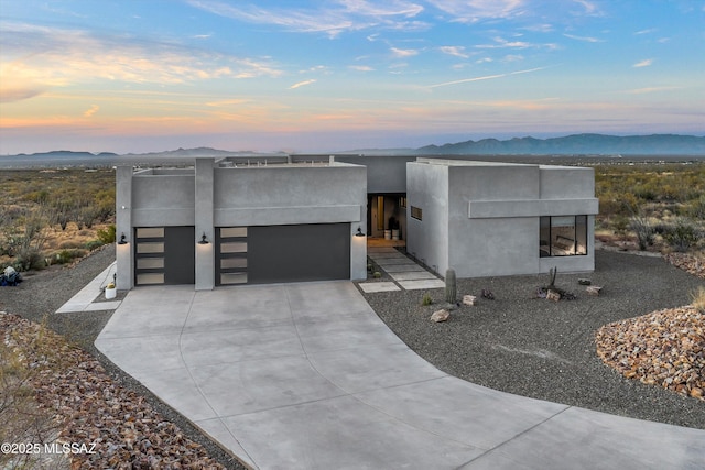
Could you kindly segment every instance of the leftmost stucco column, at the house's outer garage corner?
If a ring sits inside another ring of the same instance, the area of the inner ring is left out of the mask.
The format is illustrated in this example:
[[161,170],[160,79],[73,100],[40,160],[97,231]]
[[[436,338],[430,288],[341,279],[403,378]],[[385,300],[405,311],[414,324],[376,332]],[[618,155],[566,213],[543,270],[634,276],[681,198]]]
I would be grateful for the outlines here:
[[[132,240],[132,166],[116,170],[116,262],[117,288],[129,291],[134,287],[134,240]],[[127,243],[120,244],[124,234]]]

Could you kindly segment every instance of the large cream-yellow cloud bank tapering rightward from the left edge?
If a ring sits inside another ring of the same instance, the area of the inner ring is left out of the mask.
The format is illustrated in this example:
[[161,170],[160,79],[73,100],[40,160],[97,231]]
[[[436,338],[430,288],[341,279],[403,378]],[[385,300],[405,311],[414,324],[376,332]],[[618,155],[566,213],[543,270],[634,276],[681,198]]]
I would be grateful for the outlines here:
[[14,39],[0,53],[6,102],[94,80],[173,85],[281,75],[265,61],[82,30],[2,23],[0,35]]

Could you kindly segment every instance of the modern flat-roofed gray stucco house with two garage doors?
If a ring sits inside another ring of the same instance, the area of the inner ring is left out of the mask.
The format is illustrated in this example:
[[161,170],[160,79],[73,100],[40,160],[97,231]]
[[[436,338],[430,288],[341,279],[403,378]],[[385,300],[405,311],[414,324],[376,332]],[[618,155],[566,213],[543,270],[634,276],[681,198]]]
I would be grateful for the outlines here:
[[592,271],[594,194],[590,168],[412,156],[119,166],[118,288],[362,280],[368,237],[462,277]]

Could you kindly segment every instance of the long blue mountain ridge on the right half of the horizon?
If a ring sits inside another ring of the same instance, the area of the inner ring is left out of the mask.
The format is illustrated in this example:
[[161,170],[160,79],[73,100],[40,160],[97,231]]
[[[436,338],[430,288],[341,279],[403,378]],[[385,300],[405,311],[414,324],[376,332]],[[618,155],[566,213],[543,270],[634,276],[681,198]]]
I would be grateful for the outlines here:
[[482,139],[444,145],[427,145],[417,149],[416,152],[426,155],[705,155],[705,136],[576,134],[554,139],[531,136],[505,141]]

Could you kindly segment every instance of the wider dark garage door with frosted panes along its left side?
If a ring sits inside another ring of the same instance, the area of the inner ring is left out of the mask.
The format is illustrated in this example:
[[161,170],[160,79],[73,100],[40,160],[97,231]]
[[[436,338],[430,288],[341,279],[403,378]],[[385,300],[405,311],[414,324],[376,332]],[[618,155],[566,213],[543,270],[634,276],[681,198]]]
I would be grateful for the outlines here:
[[[350,278],[350,225],[219,228],[216,282],[271,284]],[[231,237],[227,237],[231,236]]]

